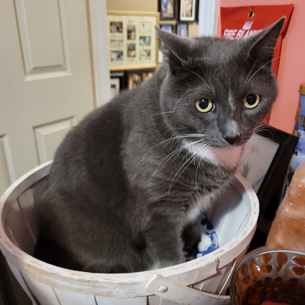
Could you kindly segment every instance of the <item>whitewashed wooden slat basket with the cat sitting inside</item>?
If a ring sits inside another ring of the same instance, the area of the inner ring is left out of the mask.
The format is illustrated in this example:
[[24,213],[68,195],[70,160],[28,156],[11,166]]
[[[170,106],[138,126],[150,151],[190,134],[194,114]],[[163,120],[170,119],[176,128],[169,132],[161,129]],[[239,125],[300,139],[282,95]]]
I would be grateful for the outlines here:
[[227,304],[223,296],[253,237],[259,205],[239,175],[208,215],[219,249],[196,260],[130,274],[95,274],[46,264],[31,256],[38,236],[34,200],[41,196],[51,162],[34,168],[0,199],[0,248],[33,304]]

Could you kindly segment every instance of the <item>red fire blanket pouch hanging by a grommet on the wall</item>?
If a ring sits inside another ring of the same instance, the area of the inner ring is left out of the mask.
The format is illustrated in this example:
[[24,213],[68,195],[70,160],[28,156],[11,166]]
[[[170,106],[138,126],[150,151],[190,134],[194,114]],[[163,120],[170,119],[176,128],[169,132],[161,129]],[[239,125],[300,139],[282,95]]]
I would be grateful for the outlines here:
[[[292,9],[293,4],[221,7],[221,36],[227,39],[248,37],[263,30],[281,17],[285,16],[286,20],[274,51],[272,70],[276,76],[278,72],[282,39],[286,33]],[[267,121],[268,119],[265,123],[267,123]]]

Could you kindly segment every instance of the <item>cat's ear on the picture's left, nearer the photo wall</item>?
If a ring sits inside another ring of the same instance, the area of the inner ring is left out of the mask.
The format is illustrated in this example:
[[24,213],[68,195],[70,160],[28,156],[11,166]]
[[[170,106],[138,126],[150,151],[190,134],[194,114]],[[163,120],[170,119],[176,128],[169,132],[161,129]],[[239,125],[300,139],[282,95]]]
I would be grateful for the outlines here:
[[192,51],[193,41],[187,37],[179,37],[176,34],[161,30],[156,26],[155,29],[163,42],[163,45],[160,44],[160,49],[168,58],[171,70],[175,72],[181,67],[190,66],[189,54]]

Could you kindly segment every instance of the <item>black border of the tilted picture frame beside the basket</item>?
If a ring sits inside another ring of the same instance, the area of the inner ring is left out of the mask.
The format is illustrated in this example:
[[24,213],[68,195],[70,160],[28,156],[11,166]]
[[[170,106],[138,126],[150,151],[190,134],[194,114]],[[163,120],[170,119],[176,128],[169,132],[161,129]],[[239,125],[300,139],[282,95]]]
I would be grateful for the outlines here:
[[[299,138],[271,126],[266,126],[256,134],[278,144],[278,148],[257,191],[257,197],[260,202],[257,229],[267,235],[282,200],[282,190],[287,170]],[[257,162],[260,162],[260,158],[257,159]]]

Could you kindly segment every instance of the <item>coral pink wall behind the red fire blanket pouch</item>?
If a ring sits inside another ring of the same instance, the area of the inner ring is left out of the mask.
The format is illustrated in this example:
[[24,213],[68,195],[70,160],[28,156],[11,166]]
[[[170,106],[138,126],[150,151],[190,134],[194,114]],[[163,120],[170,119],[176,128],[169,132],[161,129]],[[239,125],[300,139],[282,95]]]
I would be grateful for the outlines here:
[[[282,42],[278,68],[278,99],[269,124],[292,133],[299,102],[300,83],[305,82],[305,1],[304,0],[220,0],[221,7],[294,4],[292,16]],[[220,21],[218,23],[220,34]]]

